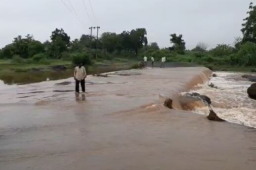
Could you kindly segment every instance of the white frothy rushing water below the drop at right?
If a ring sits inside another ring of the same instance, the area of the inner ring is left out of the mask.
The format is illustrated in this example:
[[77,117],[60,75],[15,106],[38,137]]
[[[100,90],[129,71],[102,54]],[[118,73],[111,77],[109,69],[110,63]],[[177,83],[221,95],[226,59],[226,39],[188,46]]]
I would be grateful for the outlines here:
[[[198,92],[211,98],[213,110],[226,121],[256,128],[256,101],[247,94],[252,82],[241,78],[244,73],[216,72],[212,78],[218,87],[212,88],[208,84],[198,85],[191,92]],[[196,108],[195,113],[208,114],[208,107]]]

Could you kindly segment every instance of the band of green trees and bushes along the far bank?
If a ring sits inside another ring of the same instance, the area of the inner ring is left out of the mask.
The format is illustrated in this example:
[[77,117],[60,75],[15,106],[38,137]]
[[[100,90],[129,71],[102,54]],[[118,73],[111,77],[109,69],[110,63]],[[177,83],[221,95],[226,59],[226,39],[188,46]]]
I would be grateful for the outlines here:
[[[136,63],[144,56],[155,57],[160,61],[166,57],[168,62],[191,62],[213,70],[254,71],[256,69],[256,6],[250,4],[249,16],[241,31],[243,38],[236,38],[234,46],[218,44],[208,49],[200,42],[193,50],[185,50],[182,34],[171,34],[169,48],[160,49],[156,42],[148,43],[145,28],[123,31],[120,34],[104,32],[101,37],[82,35],[71,41],[61,29],[52,31],[50,41],[40,42],[28,34],[25,38],[17,36],[11,44],[0,50],[0,69],[40,68],[52,65],[71,65],[83,62],[94,65],[101,60],[120,58]],[[133,66],[135,68],[135,65]]]

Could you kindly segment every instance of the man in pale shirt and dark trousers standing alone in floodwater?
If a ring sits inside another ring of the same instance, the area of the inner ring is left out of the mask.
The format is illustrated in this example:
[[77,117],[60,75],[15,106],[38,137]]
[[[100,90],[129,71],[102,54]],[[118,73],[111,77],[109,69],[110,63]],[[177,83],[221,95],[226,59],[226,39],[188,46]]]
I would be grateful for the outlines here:
[[75,73],[74,77],[76,80],[76,92],[79,91],[79,84],[82,86],[82,91],[85,92],[85,78],[86,78],[86,71],[85,67],[83,66],[83,63],[80,63],[76,68],[75,68]]

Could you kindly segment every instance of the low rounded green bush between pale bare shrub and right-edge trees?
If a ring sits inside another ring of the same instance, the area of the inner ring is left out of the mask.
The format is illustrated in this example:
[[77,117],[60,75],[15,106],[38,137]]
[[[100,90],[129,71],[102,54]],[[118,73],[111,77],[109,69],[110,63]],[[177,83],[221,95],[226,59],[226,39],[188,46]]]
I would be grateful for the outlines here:
[[233,53],[234,48],[227,44],[217,44],[217,46],[210,50],[213,57],[229,56]]

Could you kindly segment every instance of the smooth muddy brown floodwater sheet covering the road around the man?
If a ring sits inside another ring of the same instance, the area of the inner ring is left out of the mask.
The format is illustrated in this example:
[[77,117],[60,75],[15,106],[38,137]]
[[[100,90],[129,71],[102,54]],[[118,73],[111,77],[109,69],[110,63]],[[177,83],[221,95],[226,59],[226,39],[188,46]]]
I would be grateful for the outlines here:
[[163,106],[204,67],[0,87],[0,170],[255,170],[256,130]]

